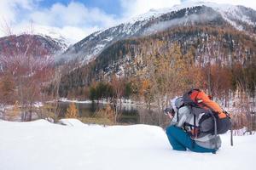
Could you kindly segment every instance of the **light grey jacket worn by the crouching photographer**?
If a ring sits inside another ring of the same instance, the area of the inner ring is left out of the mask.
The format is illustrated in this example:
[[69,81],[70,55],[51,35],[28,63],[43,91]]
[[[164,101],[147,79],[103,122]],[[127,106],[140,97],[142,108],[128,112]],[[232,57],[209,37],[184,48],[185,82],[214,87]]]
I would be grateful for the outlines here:
[[[177,108],[175,108],[175,105],[172,105],[172,108],[175,111],[175,115],[172,118],[171,125],[175,125],[177,127],[183,127],[185,122],[190,125],[194,125],[194,115],[190,113],[188,106],[183,106],[179,108],[178,121],[177,121]],[[199,116],[195,116],[195,126],[199,126],[198,122],[201,116],[203,115],[204,113],[202,113]],[[215,135],[212,135],[212,133],[199,133],[199,135],[193,139],[195,140],[196,144],[204,148],[215,149],[216,146],[217,148],[221,146],[221,139],[219,138],[219,135],[215,136]]]

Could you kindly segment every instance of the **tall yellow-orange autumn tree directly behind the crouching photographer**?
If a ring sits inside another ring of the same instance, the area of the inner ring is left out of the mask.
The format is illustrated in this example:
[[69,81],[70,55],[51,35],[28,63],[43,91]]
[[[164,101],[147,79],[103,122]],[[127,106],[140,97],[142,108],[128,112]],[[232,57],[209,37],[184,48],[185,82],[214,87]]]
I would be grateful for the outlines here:
[[178,42],[145,42],[141,54],[142,62],[137,71],[138,94],[143,97],[148,109],[157,106],[158,124],[162,124],[162,110],[170,99],[183,94],[189,88],[203,85],[201,70],[195,65],[195,48],[183,54]]

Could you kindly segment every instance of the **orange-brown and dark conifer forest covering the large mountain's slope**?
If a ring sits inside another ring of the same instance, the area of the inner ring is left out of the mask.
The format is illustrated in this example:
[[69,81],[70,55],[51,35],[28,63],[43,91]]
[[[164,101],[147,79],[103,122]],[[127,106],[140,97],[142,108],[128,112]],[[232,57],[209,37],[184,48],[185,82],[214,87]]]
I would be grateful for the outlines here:
[[[113,43],[89,65],[63,77],[61,92],[67,95],[67,91],[90,86],[93,80],[108,79],[113,73],[131,81],[138,75],[148,74],[148,59],[153,62],[168,58],[166,62],[171,64],[177,58],[186,64],[187,69],[195,67],[201,77],[199,86],[208,89],[213,96],[223,98],[224,94],[229,96],[230,90],[246,86],[243,88],[247,88],[253,97],[255,47],[255,37],[229,25],[176,27],[152,36]],[[195,80],[195,75],[189,79]]]

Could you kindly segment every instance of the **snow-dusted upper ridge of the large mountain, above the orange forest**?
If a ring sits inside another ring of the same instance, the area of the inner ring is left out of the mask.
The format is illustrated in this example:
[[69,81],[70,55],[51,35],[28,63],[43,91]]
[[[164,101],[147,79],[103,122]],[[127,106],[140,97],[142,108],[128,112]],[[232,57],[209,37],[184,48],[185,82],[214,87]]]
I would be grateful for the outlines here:
[[[218,3],[183,3],[172,8],[151,9],[148,13],[119,26],[96,31],[67,49],[59,59],[86,63],[113,42],[133,37],[143,37],[175,26],[210,24],[230,25],[239,31],[255,34],[256,11],[252,8]],[[252,32],[253,31],[253,32]]]

